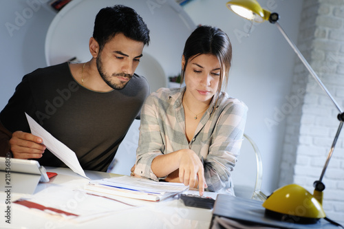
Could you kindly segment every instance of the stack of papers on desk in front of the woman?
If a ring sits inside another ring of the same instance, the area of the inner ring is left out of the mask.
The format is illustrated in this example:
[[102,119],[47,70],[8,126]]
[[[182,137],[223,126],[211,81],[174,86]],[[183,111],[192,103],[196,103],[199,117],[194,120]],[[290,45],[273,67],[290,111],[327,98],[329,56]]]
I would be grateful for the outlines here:
[[85,186],[86,191],[149,201],[160,201],[188,189],[189,186],[180,183],[155,182],[150,179],[129,176],[98,179]]

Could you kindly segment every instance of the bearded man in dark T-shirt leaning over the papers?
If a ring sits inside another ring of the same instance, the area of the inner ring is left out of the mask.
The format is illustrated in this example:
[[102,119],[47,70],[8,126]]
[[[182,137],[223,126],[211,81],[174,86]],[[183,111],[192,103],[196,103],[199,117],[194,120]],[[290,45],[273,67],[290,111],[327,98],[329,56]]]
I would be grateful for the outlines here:
[[89,39],[92,59],[36,69],[23,77],[0,113],[1,156],[65,166],[30,133],[25,112],[72,149],[83,169],[107,171],[149,94],[134,74],[149,30],[135,10],[103,8]]

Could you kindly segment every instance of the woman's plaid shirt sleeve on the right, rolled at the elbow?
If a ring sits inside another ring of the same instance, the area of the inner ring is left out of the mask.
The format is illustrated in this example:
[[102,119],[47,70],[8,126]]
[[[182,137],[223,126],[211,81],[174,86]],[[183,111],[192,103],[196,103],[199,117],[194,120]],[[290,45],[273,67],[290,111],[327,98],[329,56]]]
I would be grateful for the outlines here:
[[204,177],[208,190],[230,188],[233,171],[240,152],[248,108],[243,102],[228,104],[220,114],[204,160]]

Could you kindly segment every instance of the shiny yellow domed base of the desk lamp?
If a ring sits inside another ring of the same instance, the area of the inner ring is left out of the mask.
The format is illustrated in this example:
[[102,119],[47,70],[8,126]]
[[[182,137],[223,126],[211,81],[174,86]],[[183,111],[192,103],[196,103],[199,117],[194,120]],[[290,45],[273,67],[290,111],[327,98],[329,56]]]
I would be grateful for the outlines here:
[[273,192],[263,207],[272,212],[308,219],[325,217],[323,206],[305,188],[289,184]]

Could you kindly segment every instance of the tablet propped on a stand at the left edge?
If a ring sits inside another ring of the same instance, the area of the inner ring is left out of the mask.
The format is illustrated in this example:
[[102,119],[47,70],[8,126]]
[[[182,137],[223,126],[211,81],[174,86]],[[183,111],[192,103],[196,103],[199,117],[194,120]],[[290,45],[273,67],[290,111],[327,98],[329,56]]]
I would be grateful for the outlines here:
[[40,182],[49,182],[47,171],[45,171],[45,168],[36,160],[0,157],[0,171],[5,171],[6,173],[41,175]]

